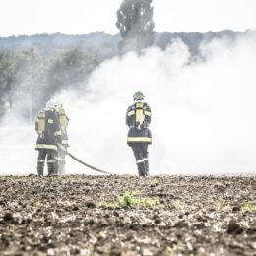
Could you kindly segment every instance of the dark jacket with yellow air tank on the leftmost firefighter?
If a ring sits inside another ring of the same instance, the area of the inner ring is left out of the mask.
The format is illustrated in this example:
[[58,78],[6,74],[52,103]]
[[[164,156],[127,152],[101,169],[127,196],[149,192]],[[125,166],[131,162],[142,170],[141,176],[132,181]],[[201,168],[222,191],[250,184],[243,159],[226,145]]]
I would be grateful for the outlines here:
[[55,110],[40,111],[35,122],[35,130],[38,133],[36,150],[57,151],[57,144],[61,142],[61,130]]

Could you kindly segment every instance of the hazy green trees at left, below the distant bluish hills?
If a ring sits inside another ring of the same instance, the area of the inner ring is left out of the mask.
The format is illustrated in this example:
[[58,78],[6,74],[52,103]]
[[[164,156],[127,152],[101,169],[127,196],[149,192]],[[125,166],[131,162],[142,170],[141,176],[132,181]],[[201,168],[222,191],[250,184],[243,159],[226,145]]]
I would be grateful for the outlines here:
[[97,65],[95,56],[76,48],[50,57],[35,48],[0,50],[0,116],[19,105],[18,111],[32,118],[56,92],[79,90]]

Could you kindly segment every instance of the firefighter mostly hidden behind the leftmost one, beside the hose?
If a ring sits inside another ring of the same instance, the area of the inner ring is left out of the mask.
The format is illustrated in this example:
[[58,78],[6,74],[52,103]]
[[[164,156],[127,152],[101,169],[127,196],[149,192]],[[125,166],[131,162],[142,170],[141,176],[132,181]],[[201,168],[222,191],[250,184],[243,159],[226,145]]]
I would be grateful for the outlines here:
[[[63,104],[59,103],[58,105],[58,118],[59,125],[61,129],[61,145],[63,148],[67,149],[69,147],[68,143],[68,134],[67,134],[67,126],[69,123],[69,118],[65,113],[65,109]],[[66,165],[66,152],[58,147],[58,155],[57,155],[57,173],[62,175],[65,174],[65,165]]]

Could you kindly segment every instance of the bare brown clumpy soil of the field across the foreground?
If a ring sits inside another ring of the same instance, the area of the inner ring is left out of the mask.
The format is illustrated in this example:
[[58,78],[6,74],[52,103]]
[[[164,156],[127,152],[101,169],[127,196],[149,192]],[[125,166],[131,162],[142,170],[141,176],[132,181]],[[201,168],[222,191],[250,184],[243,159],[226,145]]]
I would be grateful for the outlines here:
[[256,176],[2,176],[0,255],[256,255],[255,206]]

